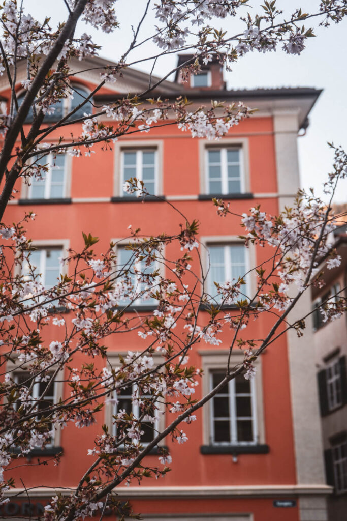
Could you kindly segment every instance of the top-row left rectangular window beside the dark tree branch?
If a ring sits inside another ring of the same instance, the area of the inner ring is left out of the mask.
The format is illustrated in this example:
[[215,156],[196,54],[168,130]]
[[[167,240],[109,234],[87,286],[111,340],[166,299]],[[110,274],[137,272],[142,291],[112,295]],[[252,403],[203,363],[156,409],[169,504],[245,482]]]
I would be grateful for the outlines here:
[[29,187],[29,199],[62,199],[66,197],[67,156],[48,154],[36,160],[37,165],[47,167],[41,177],[33,177]]

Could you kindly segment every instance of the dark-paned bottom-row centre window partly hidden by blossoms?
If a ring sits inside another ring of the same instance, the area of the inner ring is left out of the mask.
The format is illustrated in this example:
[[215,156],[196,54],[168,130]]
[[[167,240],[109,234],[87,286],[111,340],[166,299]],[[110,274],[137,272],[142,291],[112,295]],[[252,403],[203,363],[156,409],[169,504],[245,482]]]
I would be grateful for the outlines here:
[[[117,414],[117,411],[124,410],[128,415],[133,414],[135,418],[140,418],[144,415],[144,421],[141,422],[140,430],[143,431],[143,435],[141,436],[140,443],[142,445],[146,445],[153,441],[155,436],[159,431],[158,425],[158,414],[156,408],[150,407],[150,410],[147,410],[144,414],[141,411],[138,400],[142,398],[150,398],[150,394],[143,394],[139,387],[136,384],[133,384],[130,387],[125,387],[121,389],[120,393],[117,395],[118,405],[114,406],[113,414]],[[134,403],[135,402],[135,403]],[[146,420],[146,416],[155,418],[155,421]],[[113,426],[113,432],[116,433],[115,426]]]

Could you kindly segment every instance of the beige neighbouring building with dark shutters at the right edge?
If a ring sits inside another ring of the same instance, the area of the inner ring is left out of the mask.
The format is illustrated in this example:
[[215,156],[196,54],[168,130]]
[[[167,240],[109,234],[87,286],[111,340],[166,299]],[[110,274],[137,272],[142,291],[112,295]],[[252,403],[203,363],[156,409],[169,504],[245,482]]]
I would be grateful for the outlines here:
[[[347,225],[334,233],[338,268],[324,268],[325,287],[313,288],[314,308],[331,297],[346,296]],[[322,418],[326,480],[334,490],[328,498],[329,521],[347,519],[347,316],[324,322],[322,313],[313,313],[315,360]]]

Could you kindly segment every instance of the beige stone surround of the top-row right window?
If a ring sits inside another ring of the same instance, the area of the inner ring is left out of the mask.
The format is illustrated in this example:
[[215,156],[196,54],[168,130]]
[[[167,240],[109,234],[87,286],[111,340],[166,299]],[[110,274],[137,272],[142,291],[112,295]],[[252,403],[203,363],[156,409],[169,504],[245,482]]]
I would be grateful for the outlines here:
[[[200,166],[200,194],[209,194],[209,172],[208,172],[208,150],[215,148],[238,148],[240,151],[240,181],[241,192],[249,193],[251,191],[250,170],[249,170],[249,139],[248,138],[222,138],[218,145],[211,145],[211,141],[206,139],[199,140],[199,166]],[[211,194],[218,195],[218,194]],[[221,194],[222,195],[222,194]],[[237,193],[223,195],[237,196]]]

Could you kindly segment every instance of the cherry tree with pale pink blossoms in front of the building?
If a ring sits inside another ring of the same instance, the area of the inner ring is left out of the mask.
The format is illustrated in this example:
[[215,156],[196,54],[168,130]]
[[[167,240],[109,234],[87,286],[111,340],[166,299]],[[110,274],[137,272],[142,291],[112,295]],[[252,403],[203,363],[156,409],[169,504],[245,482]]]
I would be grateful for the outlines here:
[[[98,46],[87,34],[75,36],[79,19],[105,32],[119,31],[117,2],[112,0],[64,0],[66,23],[52,29],[48,19],[34,20],[18,4],[8,0],[2,6],[3,33],[0,71],[7,76],[10,89],[8,114],[1,116],[3,147],[0,155],[0,218],[3,219],[18,178],[30,183],[45,167],[38,160],[54,153],[90,155],[93,145],[106,146],[125,134],[148,132],[164,125],[177,125],[192,137],[219,139],[251,110],[243,105],[212,102],[211,108],[189,111],[188,100],[178,97],[174,102],[154,98],[152,91],[173,71],[154,80],[150,75],[148,88],[134,98],[124,97],[98,107],[93,95],[109,81],[117,81],[127,67],[138,63],[136,49],[144,44],[141,28],[149,9],[154,9],[158,27],[150,37],[157,53],[156,60],[169,53],[186,49],[194,55],[179,66],[183,77],[198,73],[202,63],[217,56],[229,67],[246,52],[268,52],[281,47],[286,53],[300,54],[313,29],[305,28],[306,20],[318,20],[328,26],[341,21],[347,13],[347,2],[324,0],[317,3],[313,14],[295,9],[284,20],[275,2],[265,2],[261,14],[250,16],[244,0],[161,0],[144,5],[144,14],[133,30],[133,40],[116,66],[100,70],[100,83],[80,105],[52,125],[43,126],[45,115],[54,113],[59,101],[73,95],[71,81],[75,72],[71,59],[96,55]],[[222,19],[230,27],[234,19],[244,24],[239,33],[217,30]],[[133,58],[132,58],[133,56]],[[19,103],[17,70],[20,61],[27,67],[23,82],[26,94]],[[83,106],[93,104],[93,114],[73,118]],[[32,123],[24,124],[28,115]],[[105,125],[99,116],[106,116]],[[80,122],[82,132],[49,143],[53,132],[72,122]],[[339,147],[335,164],[326,183],[330,201],[337,182],[346,176],[347,156]],[[143,182],[131,178],[126,182],[131,193],[149,195]],[[228,204],[213,201],[221,218],[235,217]],[[169,204],[169,203],[166,203]],[[171,204],[172,212],[178,212]],[[52,432],[73,422],[76,428],[87,428],[97,421],[97,413],[106,403],[117,405],[124,389],[135,388],[132,402],[138,414],[117,410],[113,429],[106,425],[88,451],[91,465],[71,495],[57,495],[46,507],[45,518],[72,520],[93,515],[104,505],[118,515],[130,514],[130,507],[112,494],[120,483],[142,481],[148,476],[160,478],[169,472],[171,456],[160,449],[158,466],[144,466],[144,457],[163,440],[171,436],[178,444],[186,442],[189,424],[195,412],[213,398],[220,389],[239,374],[250,379],[255,375],[255,359],[288,329],[299,336],[305,319],[294,322],[290,312],[312,284],[322,285],[319,263],[327,267],[339,265],[341,259],[331,249],[330,237],[337,225],[330,204],[313,194],[298,193],[292,208],[278,216],[266,215],[260,207],[239,215],[245,229],[242,239],[264,247],[267,259],[237,280],[215,284],[212,294],[208,287],[208,268],[201,262],[203,245],[199,242],[199,225],[181,215],[182,225],[176,234],[163,230],[157,237],[144,238],[138,228],[130,228],[128,259],[120,265],[117,244],[111,243],[102,255],[95,251],[96,237],[83,233],[84,249],[69,250],[63,259],[66,270],[53,288],[45,288],[33,262],[34,248],[25,237],[25,226],[35,216],[25,214],[15,224],[1,223],[3,246],[0,253],[1,271],[1,407],[0,463],[1,493],[6,501],[8,488],[13,485],[10,470],[16,454],[25,455],[34,447],[45,449]],[[175,257],[165,255],[164,246],[175,245]],[[200,269],[195,267],[199,266]],[[251,293],[247,278],[253,272],[256,288]],[[125,314],[138,299],[156,303],[150,314]],[[232,311],[225,312],[225,305]],[[320,304],[324,320],[333,320],[345,311],[343,290]],[[201,312],[204,311],[204,313]],[[206,311],[208,313],[206,313]],[[252,320],[271,317],[271,328],[263,339],[242,338]],[[208,317],[208,318],[207,318]],[[56,328],[56,340],[46,344],[46,328]],[[108,339],[119,333],[135,332],[143,348],[119,356],[117,367],[109,359]],[[229,359],[222,381],[199,401],[194,399],[201,369],[189,365],[189,354],[201,342],[219,345],[228,339]],[[243,363],[234,366],[231,354],[243,353]],[[83,365],[75,364],[76,354],[85,356]],[[102,359],[102,370],[93,361]],[[77,365],[77,366],[76,366]],[[25,371],[21,381],[15,369]],[[71,389],[59,403],[45,405],[49,383],[58,375]],[[45,382],[42,392],[34,396],[37,382]],[[38,414],[38,410],[40,414]],[[173,414],[170,424],[158,429],[155,418],[165,411]],[[146,427],[145,427],[146,426]],[[144,444],[144,429],[150,429],[152,440]],[[17,452],[14,451],[17,449]],[[59,457],[57,458],[57,464]],[[6,471],[6,474],[3,474]],[[9,477],[8,477],[9,476]]]

